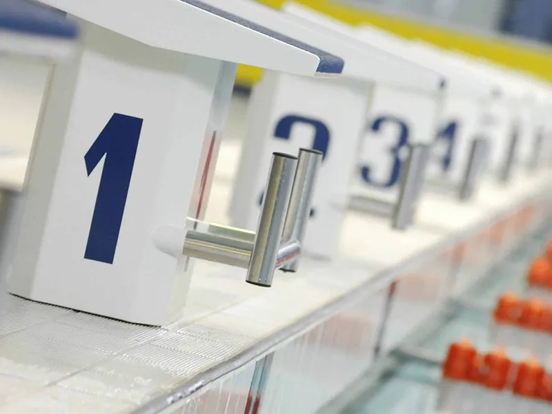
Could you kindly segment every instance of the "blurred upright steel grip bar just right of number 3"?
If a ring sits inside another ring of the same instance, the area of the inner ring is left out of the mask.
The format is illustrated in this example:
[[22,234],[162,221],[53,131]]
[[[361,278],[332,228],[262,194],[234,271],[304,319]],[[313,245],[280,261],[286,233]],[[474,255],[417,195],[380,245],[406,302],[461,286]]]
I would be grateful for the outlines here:
[[427,144],[411,146],[408,161],[401,172],[401,188],[393,212],[393,228],[404,230],[412,223],[417,202],[422,194],[429,153],[430,147]]

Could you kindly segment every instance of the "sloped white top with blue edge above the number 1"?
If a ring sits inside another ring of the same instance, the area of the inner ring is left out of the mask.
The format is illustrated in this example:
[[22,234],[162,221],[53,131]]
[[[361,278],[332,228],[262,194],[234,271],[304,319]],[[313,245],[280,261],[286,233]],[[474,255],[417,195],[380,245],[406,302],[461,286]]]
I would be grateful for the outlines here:
[[39,1],[155,48],[305,76],[344,67],[335,55],[199,0]]

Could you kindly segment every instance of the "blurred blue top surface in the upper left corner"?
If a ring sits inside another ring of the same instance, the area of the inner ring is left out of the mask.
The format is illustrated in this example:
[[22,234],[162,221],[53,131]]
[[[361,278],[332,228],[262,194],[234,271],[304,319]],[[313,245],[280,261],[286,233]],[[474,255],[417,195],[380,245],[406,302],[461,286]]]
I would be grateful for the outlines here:
[[77,24],[63,12],[29,0],[0,0],[0,30],[58,39],[78,35]]

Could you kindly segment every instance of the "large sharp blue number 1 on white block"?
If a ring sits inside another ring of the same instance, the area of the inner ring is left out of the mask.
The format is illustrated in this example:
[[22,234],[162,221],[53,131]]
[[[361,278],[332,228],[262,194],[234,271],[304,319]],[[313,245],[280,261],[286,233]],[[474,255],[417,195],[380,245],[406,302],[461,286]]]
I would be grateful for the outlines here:
[[84,253],[86,259],[113,263],[142,121],[113,114],[84,155],[88,176],[105,157]]

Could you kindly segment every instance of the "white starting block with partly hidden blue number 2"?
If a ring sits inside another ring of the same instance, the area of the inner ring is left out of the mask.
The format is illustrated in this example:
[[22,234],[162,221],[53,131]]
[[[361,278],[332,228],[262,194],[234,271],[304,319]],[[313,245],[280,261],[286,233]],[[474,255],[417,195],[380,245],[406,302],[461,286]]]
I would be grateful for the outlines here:
[[[242,3],[248,2],[228,1],[224,7],[232,10],[241,7]],[[266,14],[266,8],[253,2],[248,4],[249,17]],[[339,51],[346,60],[344,74],[337,81],[329,81],[265,73],[250,99],[246,144],[239,163],[230,216],[233,225],[253,228],[255,224],[251,217],[259,211],[263,194],[261,177],[266,172],[266,154],[272,150],[289,152],[301,146],[311,146],[324,153],[324,161],[313,199],[305,249],[311,255],[333,257],[344,213],[349,206],[348,186],[355,172],[359,147],[365,139],[366,119],[372,112],[374,97],[371,95],[377,94],[380,83],[403,87],[407,91],[420,92],[411,94],[422,95],[420,99],[424,103],[418,106],[420,110],[427,106],[435,109],[437,104],[433,101],[440,96],[444,79],[434,70],[355,39],[348,27],[327,24],[317,14],[295,7],[284,5],[282,21],[267,19],[266,24],[272,24],[275,30],[278,24],[293,25],[293,33],[302,36],[304,41],[324,46],[331,52]],[[397,104],[395,95],[389,99],[389,105]],[[380,156],[374,170],[378,174],[378,169],[393,167],[393,175],[397,175],[393,179],[397,181],[396,185],[393,184],[396,192],[399,167],[409,151],[408,143],[401,141],[397,147],[395,141],[377,141],[383,146],[376,144]],[[406,154],[399,158],[401,149]],[[264,154],[264,158],[258,154]],[[405,188],[408,188],[404,192],[404,206],[415,199],[417,182],[420,181],[418,173],[423,170],[417,167],[424,163],[424,148],[411,151],[411,155],[413,164],[406,169],[411,175],[404,181]],[[391,166],[388,165],[389,158]],[[252,179],[255,181],[253,185]],[[393,203],[395,201],[396,193]],[[393,209],[392,205],[386,207]],[[404,221],[408,221],[408,208],[404,211],[397,208],[397,211],[404,213]],[[396,217],[400,216],[397,214]]]

